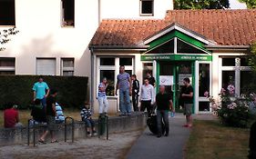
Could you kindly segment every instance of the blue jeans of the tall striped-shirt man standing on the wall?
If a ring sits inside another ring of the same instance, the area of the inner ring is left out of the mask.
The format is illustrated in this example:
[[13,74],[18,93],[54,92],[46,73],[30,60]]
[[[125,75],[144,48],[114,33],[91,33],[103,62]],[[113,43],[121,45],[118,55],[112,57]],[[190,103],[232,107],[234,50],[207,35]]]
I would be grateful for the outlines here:
[[130,114],[131,105],[129,99],[129,90],[119,90],[119,102],[121,114]]

